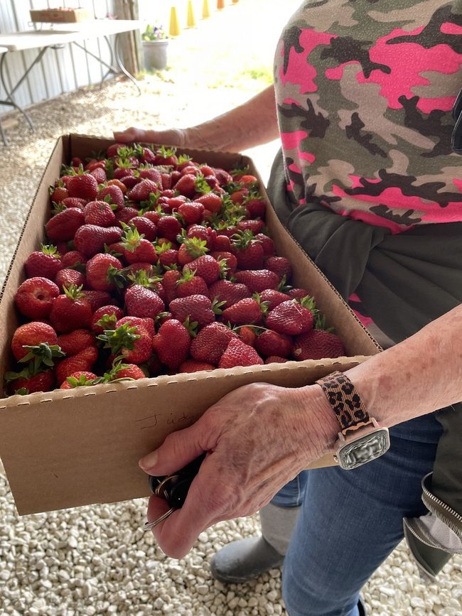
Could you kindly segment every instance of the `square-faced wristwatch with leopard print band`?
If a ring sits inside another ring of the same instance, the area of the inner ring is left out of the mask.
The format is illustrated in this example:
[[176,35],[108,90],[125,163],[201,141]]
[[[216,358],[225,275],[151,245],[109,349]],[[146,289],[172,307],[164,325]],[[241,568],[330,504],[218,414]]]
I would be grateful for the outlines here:
[[390,449],[388,428],[369,416],[360,394],[343,372],[332,372],[316,383],[321,385],[342,428],[333,456],[340,468],[358,468]]

